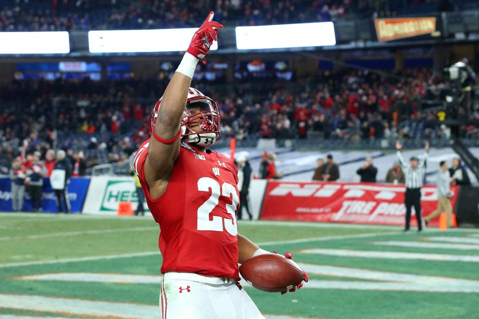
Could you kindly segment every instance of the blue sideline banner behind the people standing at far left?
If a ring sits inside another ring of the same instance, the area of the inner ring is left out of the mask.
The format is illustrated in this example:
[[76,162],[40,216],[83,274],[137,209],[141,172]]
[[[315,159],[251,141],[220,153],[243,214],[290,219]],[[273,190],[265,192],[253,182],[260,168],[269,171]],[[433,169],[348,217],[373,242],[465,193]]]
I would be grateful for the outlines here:
[[[81,212],[81,206],[85,199],[89,177],[70,178],[67,185],[68,199],[70,200],[71,212]],[[55,192],[50,186],[50,180],[43,178],[42,204],[44,212],[56,212]],[[8,177],[0,177],[0,211],[11,211],[11,182]],[[30,211],[31,202],[28,191],[25,192],[23,211]]]

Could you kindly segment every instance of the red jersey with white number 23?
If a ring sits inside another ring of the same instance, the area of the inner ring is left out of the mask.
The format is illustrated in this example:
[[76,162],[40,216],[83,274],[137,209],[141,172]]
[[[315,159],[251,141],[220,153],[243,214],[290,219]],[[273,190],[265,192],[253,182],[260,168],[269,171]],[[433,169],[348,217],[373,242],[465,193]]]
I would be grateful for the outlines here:
[[239,280],[236,211],[240,197],[235,164],[217,152],[201,152],[181,142],[165,193],[152,199],[144,172],[149,142],[138,150],[133,169],[160,225],[161,272]]

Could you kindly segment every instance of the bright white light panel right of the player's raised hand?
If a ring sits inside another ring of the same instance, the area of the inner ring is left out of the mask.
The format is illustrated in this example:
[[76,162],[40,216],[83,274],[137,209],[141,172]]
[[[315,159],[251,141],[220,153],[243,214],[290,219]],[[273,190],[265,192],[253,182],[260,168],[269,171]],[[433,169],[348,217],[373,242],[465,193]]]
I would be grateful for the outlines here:
[[247,49],[335,45],[333,22],[237,26],[236,47]]

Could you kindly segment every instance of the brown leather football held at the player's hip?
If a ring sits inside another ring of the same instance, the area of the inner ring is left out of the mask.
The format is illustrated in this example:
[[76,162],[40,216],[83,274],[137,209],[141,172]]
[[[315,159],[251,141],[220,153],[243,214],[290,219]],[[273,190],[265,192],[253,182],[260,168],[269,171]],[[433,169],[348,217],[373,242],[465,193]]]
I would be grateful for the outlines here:
[[289,290],[304,279],[301,268],[279,254],[264,254],[246,260],[240,266],[240,274],[251,286],[268,293]]

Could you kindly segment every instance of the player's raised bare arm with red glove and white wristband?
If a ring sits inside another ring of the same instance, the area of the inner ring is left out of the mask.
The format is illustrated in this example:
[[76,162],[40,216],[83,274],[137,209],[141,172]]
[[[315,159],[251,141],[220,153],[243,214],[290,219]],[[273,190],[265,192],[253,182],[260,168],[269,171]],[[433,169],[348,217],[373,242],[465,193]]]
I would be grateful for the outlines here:
[[218,39],[218,29],[223,27],[213,21],[213,15],[213,11],[210,12],[205,23],[193,35],[187,52],[161,98],[144,168],[152,198],[158,198],[166,190],[180,152],[180,121],[195,68],[198,62],[207,63],[205,56],[213,40]]

